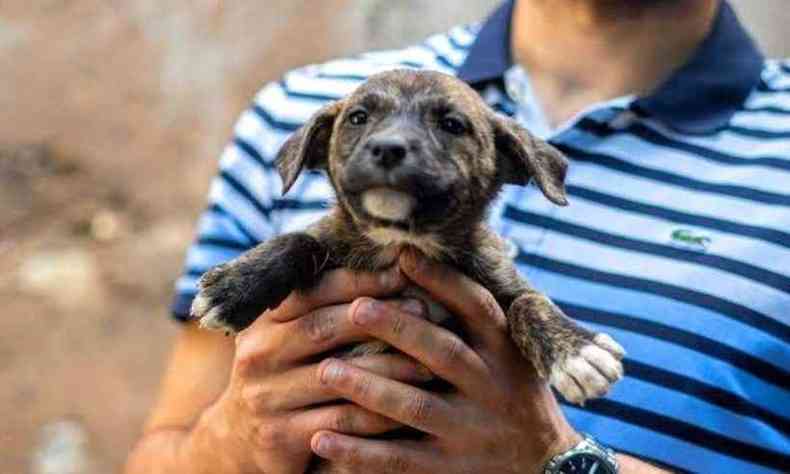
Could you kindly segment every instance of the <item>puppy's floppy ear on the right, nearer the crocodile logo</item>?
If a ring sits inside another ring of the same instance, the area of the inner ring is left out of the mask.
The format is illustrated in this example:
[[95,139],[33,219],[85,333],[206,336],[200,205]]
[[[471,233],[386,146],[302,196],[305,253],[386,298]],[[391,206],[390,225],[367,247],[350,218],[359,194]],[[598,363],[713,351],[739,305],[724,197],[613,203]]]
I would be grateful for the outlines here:
[[500,179],[508,184],[525,185],[532,178],[549,201],[567,206],[565,156],[511,118],[492,112],[491,122]]

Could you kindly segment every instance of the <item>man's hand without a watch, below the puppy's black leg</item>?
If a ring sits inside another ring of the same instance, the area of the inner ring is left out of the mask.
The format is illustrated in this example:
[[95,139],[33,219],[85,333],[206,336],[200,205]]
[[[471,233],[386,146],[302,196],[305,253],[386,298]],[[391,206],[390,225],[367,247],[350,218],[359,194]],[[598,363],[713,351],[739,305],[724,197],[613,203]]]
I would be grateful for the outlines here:
[[[238,335],[228,388],[192,430],[184,455],[224,460],[203,465],[206,472],[295,474],[305,471],[316,431],[372,435],[400,426],[357,405],[327,405],[338,395],[319,381],[316,361],[322,353],[370,339],[348,319],[348,302],[391,295],[404,284],[397,267],[379,274],[337,270],[327,273],[318,287],[293,293],[258,318]],[[415,312],[406,302],[391,304]],[[401,382],[431,377],[403,355],[368,356],[348,366]]]

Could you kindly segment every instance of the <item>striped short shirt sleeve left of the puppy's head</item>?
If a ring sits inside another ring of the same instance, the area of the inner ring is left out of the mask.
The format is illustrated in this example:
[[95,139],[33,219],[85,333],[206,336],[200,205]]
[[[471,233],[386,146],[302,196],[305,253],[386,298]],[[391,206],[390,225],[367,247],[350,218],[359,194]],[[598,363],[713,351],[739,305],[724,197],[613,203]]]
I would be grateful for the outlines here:
[[267,103],[267,97],[280,95],[280,88],[273,83],[261,90],[239,117],[233,138],[222,152],[208,203],[176,281],[171,312],[179,321],[189,319],[203,273],[278,232],[272,209],[281,185],[274,159],[297,126],[278,121],[271,110],[277,104]]

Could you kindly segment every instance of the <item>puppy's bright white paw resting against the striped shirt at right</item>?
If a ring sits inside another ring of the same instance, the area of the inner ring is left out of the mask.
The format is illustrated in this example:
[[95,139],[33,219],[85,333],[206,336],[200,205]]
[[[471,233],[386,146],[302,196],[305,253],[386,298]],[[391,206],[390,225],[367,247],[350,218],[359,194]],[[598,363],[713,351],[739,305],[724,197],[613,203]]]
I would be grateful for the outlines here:
[[607,334],[599,333],[577,352],[559,357],[549,371],[549,382],[571,403],[584,405],[591,398],[606,395],[623,377],[622,346]]

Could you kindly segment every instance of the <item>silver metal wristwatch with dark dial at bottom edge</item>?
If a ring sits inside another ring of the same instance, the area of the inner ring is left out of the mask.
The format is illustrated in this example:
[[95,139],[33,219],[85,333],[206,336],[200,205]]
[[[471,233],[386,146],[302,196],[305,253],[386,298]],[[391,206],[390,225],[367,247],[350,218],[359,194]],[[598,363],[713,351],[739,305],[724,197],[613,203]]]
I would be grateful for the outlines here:
[[620,468],[614,451],[598,444],[590,435],[583,434],[579,444],[554,456],[543,470],[544,474],[617,474]]

